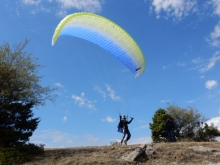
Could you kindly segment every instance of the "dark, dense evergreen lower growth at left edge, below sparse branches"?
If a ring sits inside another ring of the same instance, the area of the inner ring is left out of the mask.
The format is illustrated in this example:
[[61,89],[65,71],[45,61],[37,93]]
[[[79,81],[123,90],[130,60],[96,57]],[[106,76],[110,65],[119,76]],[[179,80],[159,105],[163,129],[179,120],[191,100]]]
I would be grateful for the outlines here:
[[7,109],[1,108],[1,148],[22,145],[29,140],[40,122],[39,118],[32,118],[32,107],[31,103],[13,103]]

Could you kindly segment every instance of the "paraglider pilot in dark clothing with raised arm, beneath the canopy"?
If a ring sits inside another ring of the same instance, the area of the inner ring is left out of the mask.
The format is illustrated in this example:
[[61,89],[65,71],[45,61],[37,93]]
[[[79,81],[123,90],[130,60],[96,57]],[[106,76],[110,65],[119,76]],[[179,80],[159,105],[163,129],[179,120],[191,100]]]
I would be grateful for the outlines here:
[[[131,138],[131,133],[128,129],[128,124],[130,124],[132,122],[134,118],[132,117],[130,121],[126,120],[126,116],[120,116],[120,123],[121,123],[121,127],[122,127],[122,139],[121,139],[121,144],[124,142],[125,145],[127,145],[128,140]],[[125,136],[127,135],[126,139],[124,140]]]

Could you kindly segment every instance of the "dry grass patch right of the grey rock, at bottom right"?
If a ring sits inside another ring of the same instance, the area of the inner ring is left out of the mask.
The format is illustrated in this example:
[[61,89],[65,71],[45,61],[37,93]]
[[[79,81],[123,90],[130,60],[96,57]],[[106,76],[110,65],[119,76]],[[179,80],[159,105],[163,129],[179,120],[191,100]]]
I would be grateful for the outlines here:
[[209,164],[220,162],[220,155],[216,152],[201,152],[190,149],[192,146],[203,146],[215,148],[220,152],[220,143],[218,142],[177,142],[158,144],[159,149],[146,164]]

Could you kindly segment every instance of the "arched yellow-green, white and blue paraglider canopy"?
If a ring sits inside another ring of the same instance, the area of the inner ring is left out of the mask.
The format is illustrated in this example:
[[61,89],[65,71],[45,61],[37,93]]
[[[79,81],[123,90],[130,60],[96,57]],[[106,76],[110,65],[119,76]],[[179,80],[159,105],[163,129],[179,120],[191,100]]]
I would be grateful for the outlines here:
[[124,29],[105,17],[87,12],[68,15],[57,26],[52,45],[62,35],[82,38],[102,47],[118,58],[135,77],[145,70],[146,62],[138,44]]

